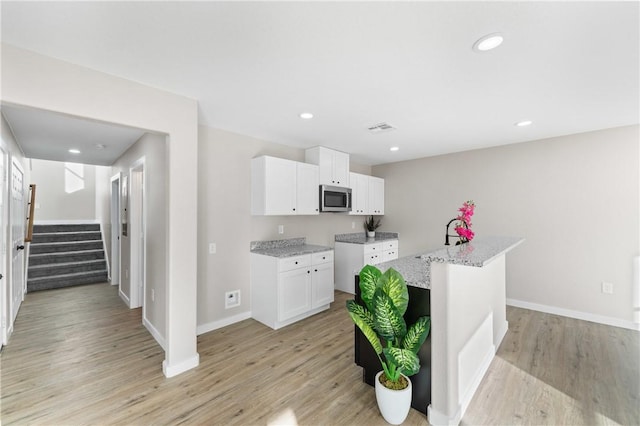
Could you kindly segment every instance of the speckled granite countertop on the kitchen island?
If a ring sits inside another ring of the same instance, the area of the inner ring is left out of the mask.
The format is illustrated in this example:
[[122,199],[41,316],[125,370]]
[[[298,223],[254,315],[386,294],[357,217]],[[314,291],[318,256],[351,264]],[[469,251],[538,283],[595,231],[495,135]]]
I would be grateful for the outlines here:
[[483,237],[461,246],[450,246],[429,253],[401,257],[377,265],[382,272],[393,268],[407,285],[431,289],[431,262],[482,267],[524,241],[518,237]]

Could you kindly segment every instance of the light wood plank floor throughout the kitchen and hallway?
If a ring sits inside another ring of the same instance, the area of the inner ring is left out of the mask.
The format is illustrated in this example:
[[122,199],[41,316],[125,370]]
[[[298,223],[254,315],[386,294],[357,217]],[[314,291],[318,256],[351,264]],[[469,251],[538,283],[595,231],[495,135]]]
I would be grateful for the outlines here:
[[[200,366],[167,379],[140,310],[115,287],[28,294],[0,356],[2,423],[384,425],[353,364],[349,297],[279,331],[246,320],[202,335]],[[637,332],[507,316],[463,424],[640,424]],[[411,410],[405,424],[427,421]]]

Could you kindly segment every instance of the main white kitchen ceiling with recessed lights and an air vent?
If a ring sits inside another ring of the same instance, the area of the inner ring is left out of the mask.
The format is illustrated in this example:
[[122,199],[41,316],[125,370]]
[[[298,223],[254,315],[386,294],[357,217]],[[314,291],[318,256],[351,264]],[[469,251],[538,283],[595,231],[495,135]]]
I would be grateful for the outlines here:
[[[380,164],[640,122],[640,3],[1,2],[2,41]],[[497,49],[473,43],[501,32]],[[301,120],[303,111],[312,120]],[[515,122],[533,120],[529,127]],[[371,125],[397,129],[370,134]],[[399,146],[398,152],[390,152]]]

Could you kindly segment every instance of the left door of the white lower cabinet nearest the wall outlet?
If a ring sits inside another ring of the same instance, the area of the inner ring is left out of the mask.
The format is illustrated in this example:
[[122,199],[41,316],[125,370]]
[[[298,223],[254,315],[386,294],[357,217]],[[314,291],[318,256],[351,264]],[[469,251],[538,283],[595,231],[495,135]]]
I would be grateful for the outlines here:
[[311,268],[281,272],[278,280],[278,321],[311,309]]

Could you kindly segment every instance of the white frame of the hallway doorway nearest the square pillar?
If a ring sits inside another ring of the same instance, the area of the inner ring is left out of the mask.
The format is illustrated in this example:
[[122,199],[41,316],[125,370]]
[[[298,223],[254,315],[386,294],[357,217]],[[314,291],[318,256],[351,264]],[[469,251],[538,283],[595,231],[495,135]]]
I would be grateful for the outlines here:
[[129,168],[129,233],[131,251],[129,262],[131,274],[129,275],[129,288],[131,308],[142,307],[142,318],[146,318],[146,197],[145,183],[145,157],[136,160]]

